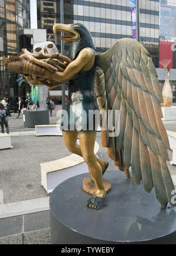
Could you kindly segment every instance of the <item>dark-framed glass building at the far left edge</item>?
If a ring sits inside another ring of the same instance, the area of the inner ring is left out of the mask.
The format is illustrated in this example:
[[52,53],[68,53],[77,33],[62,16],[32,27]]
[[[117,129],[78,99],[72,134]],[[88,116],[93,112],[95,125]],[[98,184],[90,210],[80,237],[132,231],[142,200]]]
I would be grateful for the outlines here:
[[[4,40],[4,51],[0,52],[0,60],[4,56],[19,55],[18,32],[30,28],[29,0],[0,0],[0,37]],[[1,63],[0,97],[19,95],[18,74],[8,72]]]

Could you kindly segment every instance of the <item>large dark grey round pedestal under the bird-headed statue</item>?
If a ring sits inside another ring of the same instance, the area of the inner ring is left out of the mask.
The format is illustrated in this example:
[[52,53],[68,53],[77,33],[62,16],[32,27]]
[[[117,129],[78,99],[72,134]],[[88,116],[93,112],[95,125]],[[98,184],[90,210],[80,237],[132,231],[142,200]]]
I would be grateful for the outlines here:
[[[88,174],[89,176],[89,174]],[[86,207],[82,191],[87,174],[66,180],[50,197],[52,244],[176,244],[176,209],[161,210],[155,197],[120,171],[107,171],[111,181],[101,210]]]

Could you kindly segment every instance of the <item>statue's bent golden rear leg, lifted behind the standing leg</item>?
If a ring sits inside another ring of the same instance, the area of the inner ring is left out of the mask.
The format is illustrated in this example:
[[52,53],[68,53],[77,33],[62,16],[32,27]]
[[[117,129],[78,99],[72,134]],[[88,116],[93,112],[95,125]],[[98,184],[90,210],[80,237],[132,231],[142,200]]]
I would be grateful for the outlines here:
[[[83,157],[80,145],[76,144],[77,137],[78,137],[78,132],[69,131],[69,132],[62,132],[62,134],[63,134],[63,140],[65,142],[65,145],[66,145],[67,149],[71,153],[77,154],[78,156]],[[103,170],[103,173],[104,173],[104,170],[107,169],[108,163],[104,160],[101,160],[101,159],[97,158],[97,157],[96,157],[96,159],[97,159],[97,161],[99,161],[99,164],[101,166],[101,170]],[[91,171],[91,170],[89,170],[89,171]]]

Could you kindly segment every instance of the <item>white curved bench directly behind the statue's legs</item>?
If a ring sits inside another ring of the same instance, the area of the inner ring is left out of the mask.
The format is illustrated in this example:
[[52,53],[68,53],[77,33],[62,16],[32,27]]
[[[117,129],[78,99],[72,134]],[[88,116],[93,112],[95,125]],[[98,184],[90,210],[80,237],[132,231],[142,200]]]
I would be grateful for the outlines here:
[[[96,142],[94,147],[94,153],[99,151],[99,144]],[[50,161],[48,163],[40,164],[42,186],[45,188],[48,194],[52,193],[56,186],[68,178],[77,176],[83,173],[89,173],[87,164],[83,158],[72,154],[64,157],[63,159]]]

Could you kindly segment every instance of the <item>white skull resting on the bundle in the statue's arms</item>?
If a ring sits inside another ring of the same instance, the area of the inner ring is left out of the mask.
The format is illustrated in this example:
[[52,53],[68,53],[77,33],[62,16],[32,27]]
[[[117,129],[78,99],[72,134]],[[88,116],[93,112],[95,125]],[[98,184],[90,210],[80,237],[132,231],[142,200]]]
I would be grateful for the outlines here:
[[33,47],[33,52],[34,53],[42,52],[43,54],[59,53],[55,43],[50,42],[50,41],[43,42],[43,43],[37,43]]

